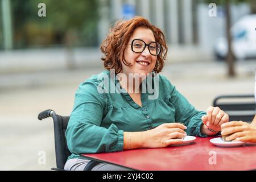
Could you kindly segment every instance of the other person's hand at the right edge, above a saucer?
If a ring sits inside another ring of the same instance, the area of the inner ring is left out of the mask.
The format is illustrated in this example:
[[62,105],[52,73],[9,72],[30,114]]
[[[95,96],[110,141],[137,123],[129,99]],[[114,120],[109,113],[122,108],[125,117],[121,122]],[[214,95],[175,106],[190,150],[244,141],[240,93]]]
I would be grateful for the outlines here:
[[230,121],[221,125],[221,135],[229,135],[225,140],[256,142],[256,126],[242,121]]

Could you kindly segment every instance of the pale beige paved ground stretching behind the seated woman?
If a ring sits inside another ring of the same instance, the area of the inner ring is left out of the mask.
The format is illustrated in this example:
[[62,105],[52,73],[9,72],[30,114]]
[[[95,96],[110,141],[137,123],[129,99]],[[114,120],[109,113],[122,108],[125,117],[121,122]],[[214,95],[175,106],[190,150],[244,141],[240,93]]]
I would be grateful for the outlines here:
[[[238,76],[226,77],[220,62],[168,63],[166,75],[197,109],[205,110],[219,94],[254,93],[256,61],[237,63]],[[55,167],[52,119],[37,115],[53,109],[69,115],[77,86],[101,68],[0,76],[0,169],[49,170]],[[46,164],[39,165],[39,152]]]

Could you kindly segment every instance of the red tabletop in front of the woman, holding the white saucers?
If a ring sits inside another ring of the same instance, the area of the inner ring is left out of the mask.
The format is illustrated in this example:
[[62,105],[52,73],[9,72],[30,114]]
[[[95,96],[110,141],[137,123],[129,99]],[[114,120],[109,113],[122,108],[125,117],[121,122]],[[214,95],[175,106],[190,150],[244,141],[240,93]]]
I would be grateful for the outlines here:
[[[212,138],[214,137],[196,137],[195,142],[187,146],[143,148],[83,155],[102,162],[148,171],[256,169],[256,145],[217,147],[209,142]],[[214,159],[216,160],[214,161]]]

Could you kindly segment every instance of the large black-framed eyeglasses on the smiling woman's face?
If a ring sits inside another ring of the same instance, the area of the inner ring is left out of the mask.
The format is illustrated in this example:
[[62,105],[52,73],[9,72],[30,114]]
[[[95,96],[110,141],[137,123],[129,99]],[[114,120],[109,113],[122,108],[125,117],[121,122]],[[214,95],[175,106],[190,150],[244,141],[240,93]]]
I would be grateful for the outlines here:
[[128,44],[128,45],[131,45],[131,51],[136,52],[136,53],[143,52],[147,46],[148,51],[153,56],[159,55],[159,53],[161,52],[161,48],[162,48],[161,44],[158,42],[151,42],[150,44],[146,44],[141,39],[134,39],[131,42],[131,44]]

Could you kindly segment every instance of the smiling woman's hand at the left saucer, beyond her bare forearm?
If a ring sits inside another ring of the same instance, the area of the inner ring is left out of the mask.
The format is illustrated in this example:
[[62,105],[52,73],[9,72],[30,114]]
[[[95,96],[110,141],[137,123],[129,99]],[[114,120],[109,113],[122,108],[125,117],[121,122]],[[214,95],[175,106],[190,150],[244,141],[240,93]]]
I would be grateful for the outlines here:
[[143,131],[143,147],[161,148],[170,144],[183,143],[182,138],[187,135],[185,129],[187,127],[180,123],[164,123],[155,129]]

